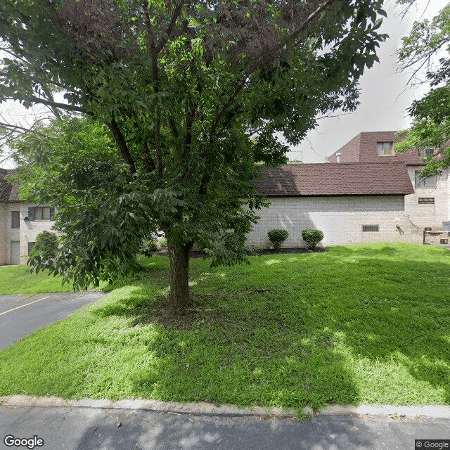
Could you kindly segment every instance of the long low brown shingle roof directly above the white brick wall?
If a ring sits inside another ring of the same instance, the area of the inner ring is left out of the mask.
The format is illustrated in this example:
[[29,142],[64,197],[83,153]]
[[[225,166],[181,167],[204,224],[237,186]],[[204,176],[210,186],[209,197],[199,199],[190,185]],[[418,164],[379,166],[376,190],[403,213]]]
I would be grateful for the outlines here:
[[253,180],[257,193],[302,195],[406,195],[414,192],[404,163],[281,165]]

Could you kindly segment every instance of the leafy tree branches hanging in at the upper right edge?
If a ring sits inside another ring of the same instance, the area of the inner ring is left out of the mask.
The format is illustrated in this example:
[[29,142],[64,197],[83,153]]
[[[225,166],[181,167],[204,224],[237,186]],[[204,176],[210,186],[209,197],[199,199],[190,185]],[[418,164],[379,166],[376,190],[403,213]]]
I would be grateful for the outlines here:
[[423,82],[430,84],[430,91],[409,108],[412,125],[401,131],[406,137],[396,150],[433,149],[432,155],[423,158],[428,164],[422,176],[439,174],[450,166],[450,4],[432,20],[414,23],[398,56],[401,68],[413,70],[411,83],[425,72]]

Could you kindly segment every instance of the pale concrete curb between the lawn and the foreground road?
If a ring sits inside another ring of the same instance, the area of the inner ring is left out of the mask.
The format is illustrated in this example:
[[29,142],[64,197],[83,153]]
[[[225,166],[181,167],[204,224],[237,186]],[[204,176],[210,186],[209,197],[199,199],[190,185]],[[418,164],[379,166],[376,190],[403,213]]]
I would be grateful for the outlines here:
[[[253,408],[239,409],[232,405],[216,406],[214,404],[199,403],[175,403],[172,401],[158,400],[64,400],[58,397],[26,397],[15,395],[3,397],[3,407],[64,407],[64,408],[101,408],[101,409],[142,409],[148,411],[161,411],[174,414],[195,414],[205,416],[275,416],[281,418],[293,418],[295,411],[281,411],[278,408]],[[393,418],[439,418],[450,419],[450,406],[393,406],[393,405],[361,405],[361,406],[328,406],[321,411],[312,411],[304,408],[305,415],[312,416],[391,416]]]

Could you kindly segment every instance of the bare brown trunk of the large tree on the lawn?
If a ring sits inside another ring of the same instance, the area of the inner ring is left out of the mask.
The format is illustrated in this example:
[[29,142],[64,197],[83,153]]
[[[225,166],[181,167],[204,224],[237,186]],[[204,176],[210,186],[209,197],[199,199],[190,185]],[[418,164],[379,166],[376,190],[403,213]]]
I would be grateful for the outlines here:
[[191,304],[189,297],[189,259],[193,243],[183,245],[180,251],[167,242],[170,261],[169,302],[175,311],[183,311]]

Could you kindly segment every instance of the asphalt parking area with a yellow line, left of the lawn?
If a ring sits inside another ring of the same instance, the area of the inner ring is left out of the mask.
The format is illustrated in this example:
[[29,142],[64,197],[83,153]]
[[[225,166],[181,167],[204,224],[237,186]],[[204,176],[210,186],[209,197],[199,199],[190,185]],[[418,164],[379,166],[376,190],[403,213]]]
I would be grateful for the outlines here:
[[0,295],[0,349],[33,331],[70,316],[102,293]]

